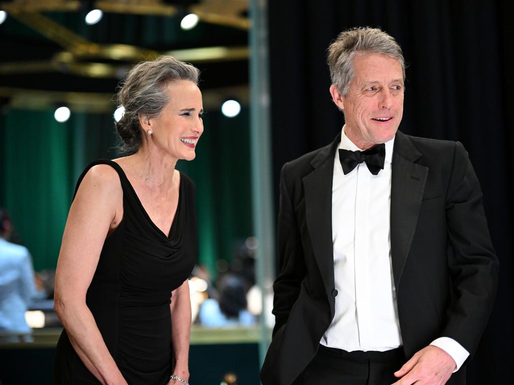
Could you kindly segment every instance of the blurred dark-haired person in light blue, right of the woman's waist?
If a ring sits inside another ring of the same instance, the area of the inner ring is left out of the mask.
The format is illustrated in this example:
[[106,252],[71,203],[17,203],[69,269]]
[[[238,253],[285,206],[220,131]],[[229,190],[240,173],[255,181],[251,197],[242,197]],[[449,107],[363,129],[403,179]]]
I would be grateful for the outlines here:
[[209,328],[254,325],[255,317],[246,307],[243,279],[229,273],[219,279],[218,285],[219,301],[209,298],[201,304],[200,324]]

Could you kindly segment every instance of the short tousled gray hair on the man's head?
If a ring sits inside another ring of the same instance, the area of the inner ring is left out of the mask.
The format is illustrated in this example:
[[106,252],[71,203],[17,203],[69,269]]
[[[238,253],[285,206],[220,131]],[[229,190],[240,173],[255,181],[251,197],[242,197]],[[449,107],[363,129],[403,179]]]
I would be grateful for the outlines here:
[[381,53],[398,60],[405,83],[405,60],[394,37],[378,28],[358,27],[343,31],[328,46],[328,67],[332,84],[343,96],[354,78],[354,57],[358,53]]

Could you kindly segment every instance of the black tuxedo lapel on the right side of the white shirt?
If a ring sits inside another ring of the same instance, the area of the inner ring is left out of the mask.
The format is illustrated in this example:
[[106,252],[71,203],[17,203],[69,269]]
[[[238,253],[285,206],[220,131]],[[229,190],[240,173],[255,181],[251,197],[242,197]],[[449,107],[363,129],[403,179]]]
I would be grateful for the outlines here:
[[425,191],[428,167],[416,164],[421,153],[403,133],[394,140],[391,180],[391,259],[396,292],[411,247]]

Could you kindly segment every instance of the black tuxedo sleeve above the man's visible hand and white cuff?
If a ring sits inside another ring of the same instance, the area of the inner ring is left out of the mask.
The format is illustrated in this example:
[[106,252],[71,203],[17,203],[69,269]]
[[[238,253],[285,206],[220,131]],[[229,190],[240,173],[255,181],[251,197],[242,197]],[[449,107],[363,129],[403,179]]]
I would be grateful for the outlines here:
[[492,247],[482,191],[464,146],[456,142],[446,199],[448,266],[454,296],[442,336],[471,355],[478,346],[494,302],[498,258]]

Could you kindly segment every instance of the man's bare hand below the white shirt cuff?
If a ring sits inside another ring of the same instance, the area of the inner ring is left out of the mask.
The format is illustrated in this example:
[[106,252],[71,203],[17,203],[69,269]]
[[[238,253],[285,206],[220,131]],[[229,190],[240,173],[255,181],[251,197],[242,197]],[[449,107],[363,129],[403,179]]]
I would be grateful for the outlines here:
[[[414,354],[399,371],[401,377],[393,385],[444,385],[455,370],[453,358],[443,349],[429,345]],[[417,382],[416,382],[417,381]]]

